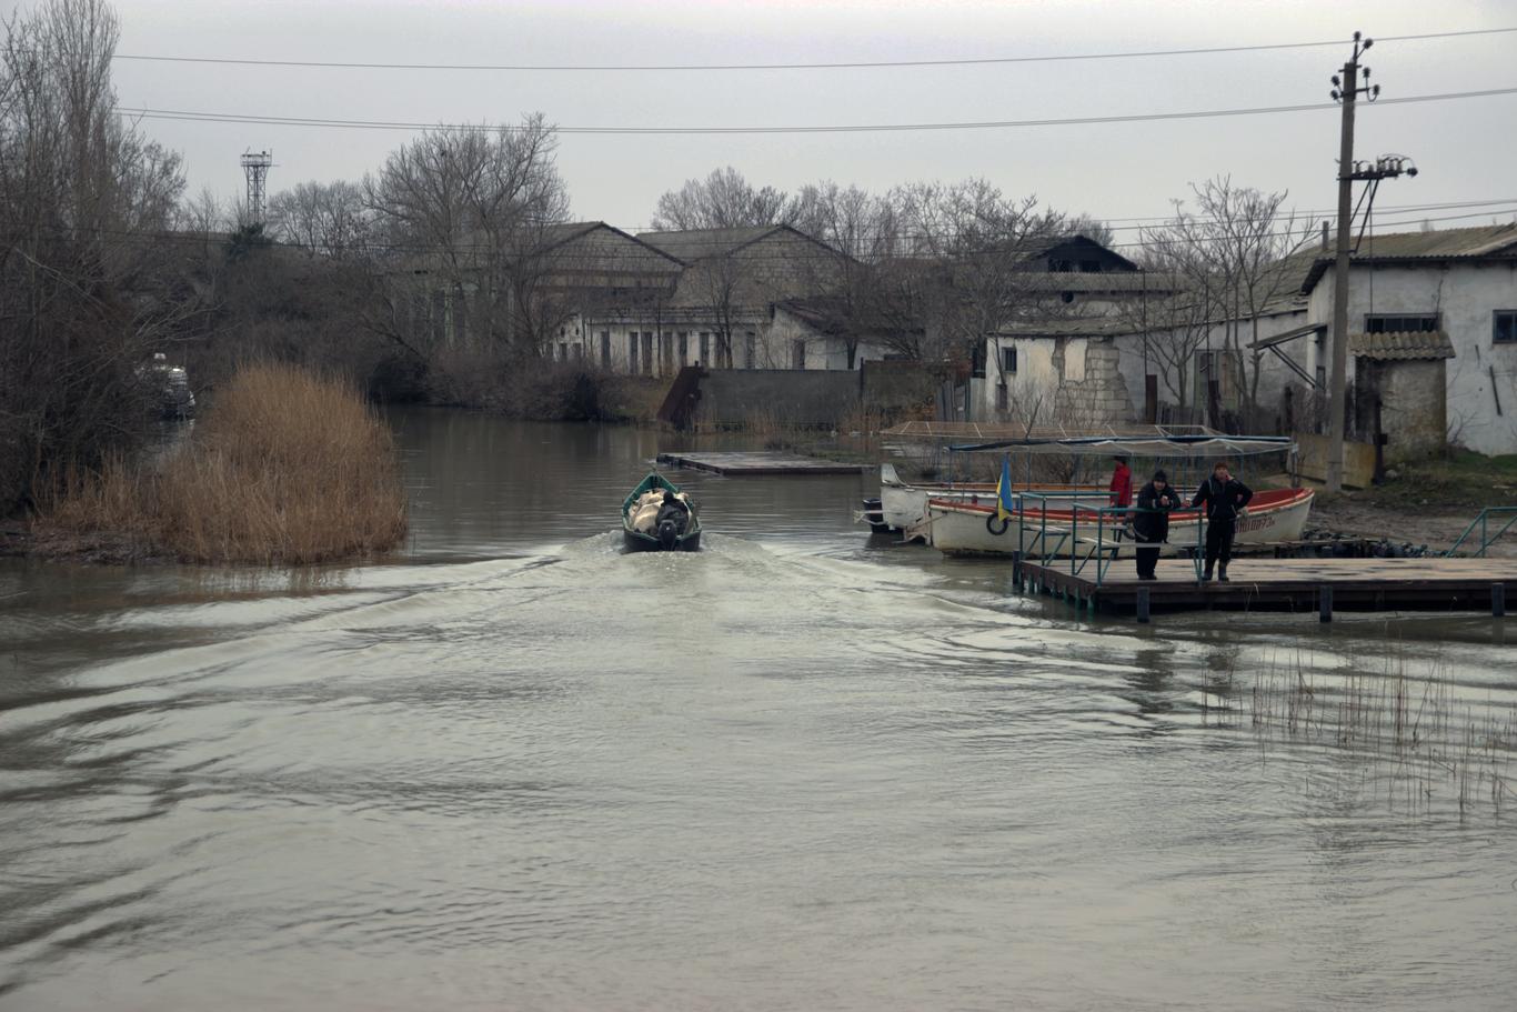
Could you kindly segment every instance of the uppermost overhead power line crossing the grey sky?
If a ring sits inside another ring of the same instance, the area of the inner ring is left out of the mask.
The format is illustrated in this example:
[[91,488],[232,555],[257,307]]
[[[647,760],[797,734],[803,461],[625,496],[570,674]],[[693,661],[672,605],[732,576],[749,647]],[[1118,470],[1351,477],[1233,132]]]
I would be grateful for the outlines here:
[[[1473,29],[1467,32],[1424,32],[1418,35],[1382,35],[1380,42],[1468,38],[1478,35],[1502,35],[1517,32],[1517,27]],[[1286,49],[1317,49],[1343,46],[1349,39],[1321,39],[1312,42],[1273,42],[1261,46],[1208,46],[1198,49],[1154,49],[1117,53],[1054,53],[1047,56],[971,56],[959,59],[881,59],[843,61],[813,64],[385,64],[385,62],[338,62],[319,59],[240,59],[232,56],[155,56],[146,53],[117,53],[114,59],[129,59],[159,64],[232,64],[241,67],[323,67],[334,70],[457,70],[457,71],[549,71],[549,73],[649,73],[649,71],[749,71],[749,70],[871,70],[898,67],[985,67],[1000,64],[1048,64],[1085,59],[1150,59],[1167,56],[1204,56],[1211,53],[1252,53]]]

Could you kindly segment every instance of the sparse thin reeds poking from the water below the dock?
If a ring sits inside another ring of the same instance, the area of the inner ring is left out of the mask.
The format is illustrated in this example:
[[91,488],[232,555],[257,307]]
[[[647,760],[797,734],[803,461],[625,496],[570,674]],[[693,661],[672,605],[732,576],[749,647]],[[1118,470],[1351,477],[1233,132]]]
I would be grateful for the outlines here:
[[1297,652],[1276,658],[1238,696],[1239,712],[1261,748],[1326,746],[1396,807],[1429,812],[1450,801],[1464,816],[1478,803],[1499,813],[1517,801],[1517,707],[1471,701],[1443,662],[1409,666],[1396,652],[1379,671],[1352,665],[1329,675]]

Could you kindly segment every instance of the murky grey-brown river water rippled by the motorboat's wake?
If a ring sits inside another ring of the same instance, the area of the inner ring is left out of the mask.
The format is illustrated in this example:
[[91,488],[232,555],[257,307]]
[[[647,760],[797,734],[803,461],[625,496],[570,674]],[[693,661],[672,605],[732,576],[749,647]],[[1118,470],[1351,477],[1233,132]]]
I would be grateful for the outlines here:
[[1091,619],[394,416],[387,564],[0,561],[0,1009],[1511,1009],[1517,633]]

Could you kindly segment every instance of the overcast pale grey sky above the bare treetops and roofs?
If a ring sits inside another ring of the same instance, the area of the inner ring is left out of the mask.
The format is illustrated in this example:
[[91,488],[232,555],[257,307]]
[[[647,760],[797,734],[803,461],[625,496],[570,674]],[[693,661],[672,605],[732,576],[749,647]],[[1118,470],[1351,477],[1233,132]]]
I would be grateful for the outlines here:
[[[15,3],[9,3],[14,9]],[[1512,0],[118,0],[121,53],[426,64],[722,64],[1101,53],[1456,32],[1517,26]],[[1385,97],[1517,86],[1517,33],[1385,41],[1370,50]],[[853,124],[1024,120],[1326,102],[1347,46],[991,67],[798,71],[525,73],[255,68],[118,61],[123,106],[391,121],[563,126]],[[1356,153],[1411,155],[1382,206],[1514,199],[1517,96],[1387,105],[1359,117]],[[185,156],[193,190],[232,197],[238,155],[272,149],[270,191],[358,179],[408,134],[147,120]],[[1289,190],[1333,206],[1336,109],[1025,129],[564,137],[558,164],[579,218],[648,222],[660,193],[718,165],[755,184],[818,179],[883,190],[986,176],[1106,218],[1162,215],[1191,181]],[[1435,211],[1429,217],[1458,214]],[[1380,218],[1390,217],[1380,212]]]

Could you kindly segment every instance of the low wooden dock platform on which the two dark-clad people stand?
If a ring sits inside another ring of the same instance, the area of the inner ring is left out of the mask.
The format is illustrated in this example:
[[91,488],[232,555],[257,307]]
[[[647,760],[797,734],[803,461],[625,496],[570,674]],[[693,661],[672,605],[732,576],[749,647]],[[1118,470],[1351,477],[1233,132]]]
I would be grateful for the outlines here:
[[1018,587],[1068,599],[1091,611],[1132,614],[1147,622],[1150,611],[1317,611],[1323,622],[1333,610],[1353,611],[1485,611],[1503,616],[1506,595],[1517,592],[1512,558],[1235,558],[1229,583],[1195,581],[1188,560],[1162,558],[1156,580],[1138,580],[1133,560],[1106,570],[1097,586],[1095,563],[1069,574],[1060,566],[1015,561]]

